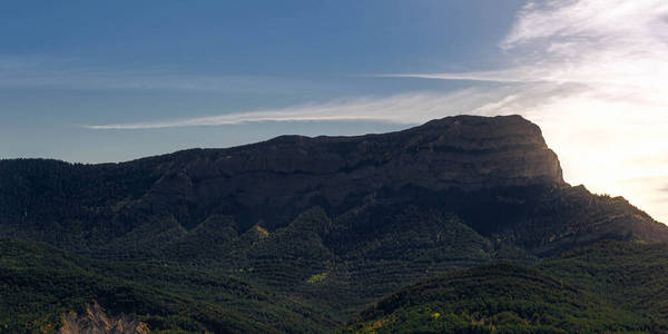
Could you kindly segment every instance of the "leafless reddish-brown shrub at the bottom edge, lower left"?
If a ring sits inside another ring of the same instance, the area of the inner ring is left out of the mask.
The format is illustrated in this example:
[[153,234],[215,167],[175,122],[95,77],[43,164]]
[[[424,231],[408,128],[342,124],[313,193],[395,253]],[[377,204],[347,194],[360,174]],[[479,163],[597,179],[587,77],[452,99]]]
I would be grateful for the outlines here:
[[60,334],[148,334],[148,326],[129,315],[109,316],[98,303],[86,307],[85,314],[62,315]]

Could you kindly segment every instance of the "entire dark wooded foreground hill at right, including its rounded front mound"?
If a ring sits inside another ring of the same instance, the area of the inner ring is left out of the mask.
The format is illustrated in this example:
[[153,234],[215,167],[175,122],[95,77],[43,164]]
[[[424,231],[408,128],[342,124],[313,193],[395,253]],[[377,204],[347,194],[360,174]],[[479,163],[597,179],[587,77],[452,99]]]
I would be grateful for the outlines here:
[[429,278],[362,312],[344,333],[668,333],[668,247],[602,242],[534,267]]

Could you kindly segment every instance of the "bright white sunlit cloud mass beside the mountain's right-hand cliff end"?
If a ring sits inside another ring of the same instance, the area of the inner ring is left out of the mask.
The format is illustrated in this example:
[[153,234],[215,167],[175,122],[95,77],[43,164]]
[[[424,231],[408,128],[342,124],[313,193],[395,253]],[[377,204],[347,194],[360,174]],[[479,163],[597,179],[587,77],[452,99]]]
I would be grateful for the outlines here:
[[510,92],[475,112],[511,109],[539,122],[567,179],[668,222],[657,189],[668,178],[668,2],[532,1],[500,48],[504,68],[395,77],[505,82]]

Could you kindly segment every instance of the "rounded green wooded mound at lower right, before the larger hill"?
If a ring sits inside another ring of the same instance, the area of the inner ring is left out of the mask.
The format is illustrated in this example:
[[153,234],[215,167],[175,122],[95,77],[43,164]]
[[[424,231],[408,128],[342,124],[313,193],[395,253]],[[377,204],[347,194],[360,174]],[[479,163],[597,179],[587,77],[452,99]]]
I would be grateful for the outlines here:
[[648,318],[611,307],[533,268],[456,271],[379,302],[342,332],[589,333],[648,331]]

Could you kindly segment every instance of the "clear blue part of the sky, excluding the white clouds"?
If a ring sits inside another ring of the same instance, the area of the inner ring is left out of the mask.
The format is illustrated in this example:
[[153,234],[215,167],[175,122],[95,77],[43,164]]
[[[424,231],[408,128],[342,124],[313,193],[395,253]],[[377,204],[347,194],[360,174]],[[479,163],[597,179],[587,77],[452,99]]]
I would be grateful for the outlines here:
[[2,2],[0,140],[6,145],[0,156],[116,161],[255,141],[284,131],[396,128],[312,121],[118,132],[77,126],[462,87],[364,76],[492,66],[499,53],[494,43],[520,6],[510,3]]

